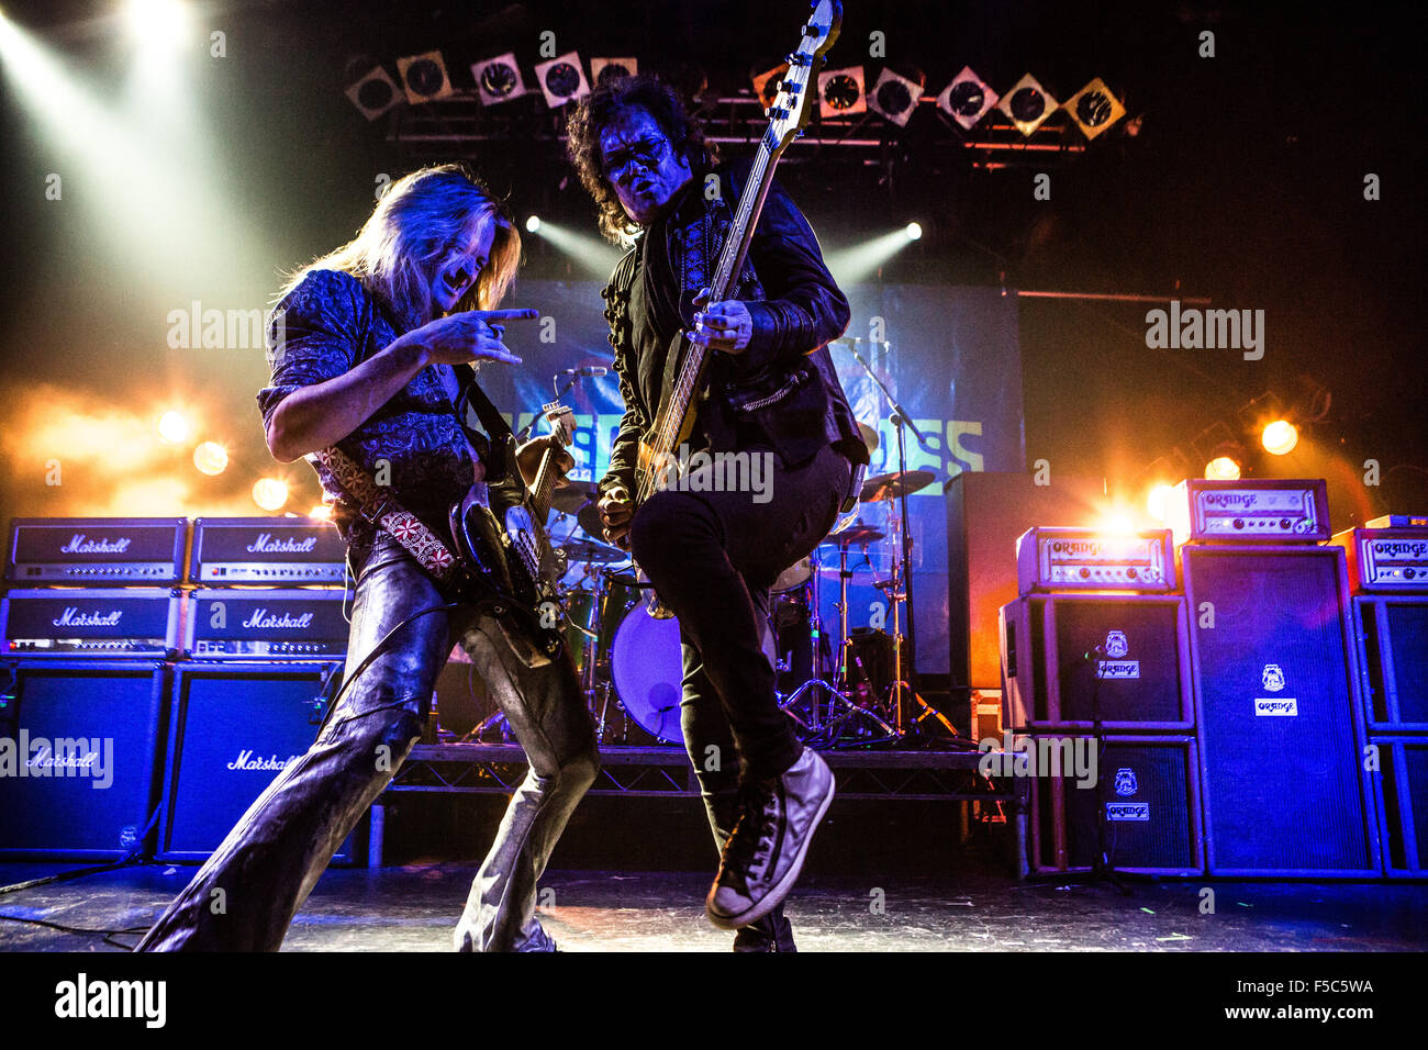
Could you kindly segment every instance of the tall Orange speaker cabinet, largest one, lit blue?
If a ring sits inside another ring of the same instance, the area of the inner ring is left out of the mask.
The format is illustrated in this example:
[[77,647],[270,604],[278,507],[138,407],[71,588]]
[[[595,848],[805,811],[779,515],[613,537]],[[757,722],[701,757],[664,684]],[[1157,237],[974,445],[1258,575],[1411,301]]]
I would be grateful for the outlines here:
[[1344,550],[1181,557],[1210,874],[1378,874]]

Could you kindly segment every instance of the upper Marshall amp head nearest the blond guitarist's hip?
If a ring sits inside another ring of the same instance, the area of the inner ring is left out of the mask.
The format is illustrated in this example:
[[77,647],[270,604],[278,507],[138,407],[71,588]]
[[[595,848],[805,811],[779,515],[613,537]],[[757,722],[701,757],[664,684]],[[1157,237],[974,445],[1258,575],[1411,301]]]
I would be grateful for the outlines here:
[[330,521],[310,517],[200,517],[188,573],[208,586],[340,584],[347,544]]

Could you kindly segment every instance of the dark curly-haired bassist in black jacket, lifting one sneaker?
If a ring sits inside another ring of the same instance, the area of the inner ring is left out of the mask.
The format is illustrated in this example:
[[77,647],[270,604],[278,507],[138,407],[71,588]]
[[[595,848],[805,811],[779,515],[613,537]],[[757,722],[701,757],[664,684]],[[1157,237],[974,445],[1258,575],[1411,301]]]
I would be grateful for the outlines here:
[[[868,459],[825,349],[848,303],[777,184],[737,294],[705,301],[748,166],[718,166],[658,79],[611,80],[581,100],[570,153],[604,234],[634,240],[603,293],[625,414],[600,513],[605,537],[631,549],[680,620],[684,739],[721,850],[707,911],[738,930],[735,950],[793,950],[781,901],[833,776],[778,709],[760,640],[770,586],[827,536]],[[681,331],[714,351],[680,454],[698,466],[665,471],[637,501],[640,443],[677,373],[668,359]]]

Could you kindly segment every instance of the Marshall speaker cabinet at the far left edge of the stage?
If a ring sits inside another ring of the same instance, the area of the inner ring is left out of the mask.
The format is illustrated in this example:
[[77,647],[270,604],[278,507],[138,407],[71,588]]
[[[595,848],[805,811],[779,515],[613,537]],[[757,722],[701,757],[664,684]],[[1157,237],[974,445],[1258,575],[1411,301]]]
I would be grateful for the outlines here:
[[159,801],[167,664],[0,663],[0,857],[117,860]]

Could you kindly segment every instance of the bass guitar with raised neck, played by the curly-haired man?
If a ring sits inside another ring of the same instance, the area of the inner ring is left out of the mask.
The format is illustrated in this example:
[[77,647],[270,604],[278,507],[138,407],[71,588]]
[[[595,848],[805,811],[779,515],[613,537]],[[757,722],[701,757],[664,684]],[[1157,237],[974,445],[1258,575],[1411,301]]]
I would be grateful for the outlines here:
[[[803,27],[798,50],[788,56],[788,71],[778,96],[768,109],[768,130],[758,143],[754,164],[740,194],[738,206],[720,251],[718,266],[710,280],[708,301],[723,301],[744,269],[760,211],[768,197],[774,167],[811,116],[811,87],[817,83],[824,56],[838,39],[843,26],[843,4],[821,0],[815,4],[808,24]],[[634,506],[638,509],[650,496],[670,483],[678,466],[678,447],[694,430],[695,400],[704,387],[704,371],[710,360],[705,346],[691,341],[681,331],[670,344],[668,360],[680,361],[674,381],[661,394],[660,409],[650,430],[640,439],[635,463]],[[671,616],[650,591],[650,613],[658,619]]]

